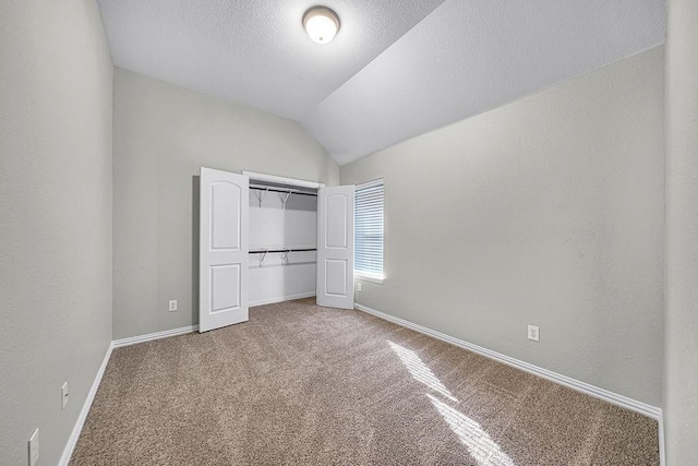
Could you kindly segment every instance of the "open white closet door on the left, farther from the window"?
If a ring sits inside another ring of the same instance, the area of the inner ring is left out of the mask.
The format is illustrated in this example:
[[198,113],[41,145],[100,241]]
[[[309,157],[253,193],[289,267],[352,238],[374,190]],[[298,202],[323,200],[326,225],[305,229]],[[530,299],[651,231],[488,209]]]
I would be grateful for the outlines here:
[[201,169],[198,331],[249,319],[250,179]]

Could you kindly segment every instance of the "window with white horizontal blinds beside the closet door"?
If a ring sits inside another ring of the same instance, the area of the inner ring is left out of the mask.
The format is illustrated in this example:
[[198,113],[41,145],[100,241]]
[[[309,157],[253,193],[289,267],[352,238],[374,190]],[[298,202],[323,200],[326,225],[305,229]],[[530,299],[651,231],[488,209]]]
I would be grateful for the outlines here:
[[357,186],[353,216],[354,274],[383,283],[383,179]]

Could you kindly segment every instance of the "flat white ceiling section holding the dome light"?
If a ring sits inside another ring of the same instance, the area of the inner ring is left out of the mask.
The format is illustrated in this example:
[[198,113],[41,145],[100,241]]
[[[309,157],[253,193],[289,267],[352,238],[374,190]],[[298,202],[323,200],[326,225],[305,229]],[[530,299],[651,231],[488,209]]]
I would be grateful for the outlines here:
[[98,0],[117,67],[301,120],[443,0],[327,0],[339,34],[311,40],[313,0]]

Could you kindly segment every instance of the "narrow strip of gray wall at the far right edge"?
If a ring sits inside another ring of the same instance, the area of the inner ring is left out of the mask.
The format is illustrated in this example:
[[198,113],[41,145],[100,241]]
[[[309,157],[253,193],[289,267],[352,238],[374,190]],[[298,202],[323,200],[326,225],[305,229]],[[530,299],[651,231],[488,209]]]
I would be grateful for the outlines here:
[[698,458],[698,3],[669,1],[666,37],[667,464]]

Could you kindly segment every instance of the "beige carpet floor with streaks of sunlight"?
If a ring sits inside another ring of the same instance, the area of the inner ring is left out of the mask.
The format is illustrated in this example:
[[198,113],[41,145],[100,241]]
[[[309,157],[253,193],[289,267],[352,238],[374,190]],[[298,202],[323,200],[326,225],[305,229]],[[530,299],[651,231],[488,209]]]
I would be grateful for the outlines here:
[[313,299],[119,348],[73,465],[657,465],[654,420]]

